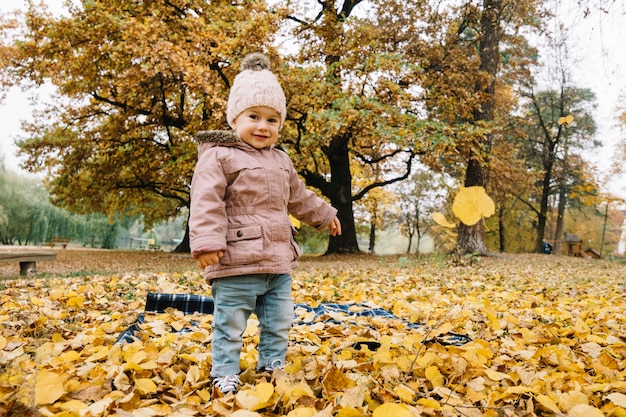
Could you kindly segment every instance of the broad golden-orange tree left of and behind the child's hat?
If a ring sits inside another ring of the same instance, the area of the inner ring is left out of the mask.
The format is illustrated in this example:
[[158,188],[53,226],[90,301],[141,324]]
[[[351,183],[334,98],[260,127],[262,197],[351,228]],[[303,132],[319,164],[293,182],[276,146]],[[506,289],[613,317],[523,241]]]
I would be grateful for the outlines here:
[[19,144],[55,204],[148,226],[189,206],[193,134],[226,127],[231,62],[267,49],[277,28],[279,15],[246,3],[83,1],[59,17],[33,5],[14,31],[0,22],[2,83],[58,91]]

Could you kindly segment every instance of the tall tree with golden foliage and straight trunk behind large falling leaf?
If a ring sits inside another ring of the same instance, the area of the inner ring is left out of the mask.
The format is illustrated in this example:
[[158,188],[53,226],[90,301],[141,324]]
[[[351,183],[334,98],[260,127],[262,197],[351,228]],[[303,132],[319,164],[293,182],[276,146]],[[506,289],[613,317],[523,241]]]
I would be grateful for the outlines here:
[[[464,2],[436,16],[447,23],[423,47],[430,50],[422,54],[425,108],[453,129],[453,139],[423,159],[430,167],[465,186],[489,188],[489,180],[500,175],[494,169],[506,165],[492,164],[492,151],[513,108],[498,94],[510,94],[507,84],[530,76],[536,50],[523,28],[537,29],[544,15],[537,2],[484,1]],[[421,44],[424,37],[420,33],[414,42]],[[457,249],[487,252],[483,222],[459,227]]]

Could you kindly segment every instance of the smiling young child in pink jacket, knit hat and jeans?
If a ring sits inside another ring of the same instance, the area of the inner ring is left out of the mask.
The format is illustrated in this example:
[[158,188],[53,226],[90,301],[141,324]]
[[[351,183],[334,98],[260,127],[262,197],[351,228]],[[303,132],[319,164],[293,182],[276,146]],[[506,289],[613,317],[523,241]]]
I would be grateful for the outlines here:
[[203,131],[191,185],[192,256],[211,281],[214,385],[236,392],[243,332],[250,314],[261,326],[258,369],[285,364],[294,312],[291,270],[301,255],[289,214],[341,234],[337,210],[299,179],[274,147],[287,116],[285,94],[269,60],[241,64],[226,111],[233,131]]

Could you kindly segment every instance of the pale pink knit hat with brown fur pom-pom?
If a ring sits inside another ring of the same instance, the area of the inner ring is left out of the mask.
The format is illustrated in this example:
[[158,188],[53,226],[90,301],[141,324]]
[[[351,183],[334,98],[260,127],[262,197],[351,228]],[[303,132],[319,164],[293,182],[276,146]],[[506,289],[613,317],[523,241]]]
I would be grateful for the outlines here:
[[282,127],[287,117],[286,101],[282,87],[270,71],[267,56],[258,52],[251,53],[241,61],[240,72],[230,88],[226,120],[233,127],[234,120],[245,110],[265,106],[280,113]]

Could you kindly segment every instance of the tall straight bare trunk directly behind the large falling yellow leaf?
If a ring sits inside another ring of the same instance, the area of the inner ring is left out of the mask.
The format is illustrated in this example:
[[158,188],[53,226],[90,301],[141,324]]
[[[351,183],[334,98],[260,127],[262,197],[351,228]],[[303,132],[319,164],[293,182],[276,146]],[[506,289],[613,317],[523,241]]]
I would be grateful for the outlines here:
[[[480,71],[485,74],[486,81],[478,81],[475,85],[477,93],[486,99],[474,111],[474,122],[491,122],[494,119],[495,108],[495,81],[498,72],[500,54],[500,15],[502,0],[484,0],[481,16],[483,36],[479,44]],[[470,152],[467,170],[465,172],[465,186],[487,185],[486,163],[491,151],[492,135],[487,133],[475,139],[475,146]],[[475,225],[461,224],[457,238],[457,250],[460,253],[486,253],[485,226],[482,221]]]

